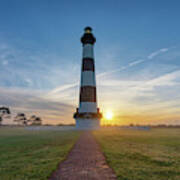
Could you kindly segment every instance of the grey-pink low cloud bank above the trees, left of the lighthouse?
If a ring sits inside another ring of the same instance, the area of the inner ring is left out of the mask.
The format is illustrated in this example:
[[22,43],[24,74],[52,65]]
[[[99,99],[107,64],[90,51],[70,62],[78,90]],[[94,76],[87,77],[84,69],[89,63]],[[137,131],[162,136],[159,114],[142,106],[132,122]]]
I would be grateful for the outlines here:
[[0,88],[0,99],[3,106],[8,106],[12,112],[11,120],[18,112],[24,112],[28,117],[32,114],[38,115],[43,119],[43,123],[72,123],[75,107],[65,102],[57,102],[42,98],[46,92],[26,90],[18,88]]

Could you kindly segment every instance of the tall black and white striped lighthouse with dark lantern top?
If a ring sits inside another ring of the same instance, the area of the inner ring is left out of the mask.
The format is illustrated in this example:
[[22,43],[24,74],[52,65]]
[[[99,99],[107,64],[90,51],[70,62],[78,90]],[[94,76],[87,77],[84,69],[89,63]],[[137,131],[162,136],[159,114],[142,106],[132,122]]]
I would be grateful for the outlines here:
[[97,108],[96,77],[94,65],[93,46],[96,38],[92,34],[92,28],[86,27],[81,37],[83,45],[81,85],[79,108],[74,113],[76,127],[79,129],[96,129],[100,127],[102,114]]

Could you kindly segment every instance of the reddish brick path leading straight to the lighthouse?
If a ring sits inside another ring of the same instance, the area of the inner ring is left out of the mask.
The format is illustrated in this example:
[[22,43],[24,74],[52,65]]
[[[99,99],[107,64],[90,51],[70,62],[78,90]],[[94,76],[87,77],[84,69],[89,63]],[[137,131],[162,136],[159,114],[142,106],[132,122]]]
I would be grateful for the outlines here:
[[92,133],[81,134],[67,159],[62,162],[49,180],[116,180],[113,170]]

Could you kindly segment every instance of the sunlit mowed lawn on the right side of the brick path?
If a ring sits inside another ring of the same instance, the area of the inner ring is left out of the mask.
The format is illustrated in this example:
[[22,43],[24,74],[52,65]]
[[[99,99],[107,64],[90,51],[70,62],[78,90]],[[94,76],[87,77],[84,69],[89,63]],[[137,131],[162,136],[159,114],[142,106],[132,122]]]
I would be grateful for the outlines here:
[[180,180],[180,129],[93,133],[119,180]]

